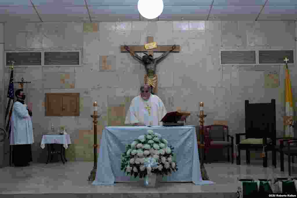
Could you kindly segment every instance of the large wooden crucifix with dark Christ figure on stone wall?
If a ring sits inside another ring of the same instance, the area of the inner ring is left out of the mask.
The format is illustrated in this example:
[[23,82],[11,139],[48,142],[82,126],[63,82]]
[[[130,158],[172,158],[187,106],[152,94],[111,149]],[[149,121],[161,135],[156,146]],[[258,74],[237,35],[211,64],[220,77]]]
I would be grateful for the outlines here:
[[[147,42],[154,42],[154,37],[147,37]],[[157,64],[162,61],[170,52],[180,52],[179,45],[158,45],[154,49],[146,50],[144,45],[121,45],[121,52],[129,52],[133,58],[144,65],[146,75],[144,76],[144,83],[152,87],[152,93],[157,93],[158,77],[156,74]],[[142,52],[145,55],[139,56],[135,52]],[[154,52],[163,52],[158,58],[153,58]]]

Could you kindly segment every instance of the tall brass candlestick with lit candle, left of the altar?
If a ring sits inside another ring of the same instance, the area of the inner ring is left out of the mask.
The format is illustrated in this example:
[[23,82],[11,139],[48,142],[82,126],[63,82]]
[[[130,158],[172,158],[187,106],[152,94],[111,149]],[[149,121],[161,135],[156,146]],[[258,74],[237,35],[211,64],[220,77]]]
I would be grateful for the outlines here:
[[94,108],[94,113],[93,115],[91,115],[91,117],[93,118],[93,123],[94,123],[94,167],[93,170],[91,170],[90,176],[89,176],[89,181],[94,181],[96,178],[96,172],[97,172],[97,148],[98,148],[98,144],[97,144],[97,118],[100,117],[100,115],[97,115],[98,113],[98,104],[95,101],[93,103],[93,108]]

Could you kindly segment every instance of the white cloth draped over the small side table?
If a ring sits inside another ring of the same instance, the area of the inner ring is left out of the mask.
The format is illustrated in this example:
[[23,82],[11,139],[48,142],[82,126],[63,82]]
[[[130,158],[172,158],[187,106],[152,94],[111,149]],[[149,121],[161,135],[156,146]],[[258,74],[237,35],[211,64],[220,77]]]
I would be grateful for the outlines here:
[[67,149],[68,145],[71,144],[70,135],[43,135],[40,147],[44,149],[45,144],[63,144],[64,148]]

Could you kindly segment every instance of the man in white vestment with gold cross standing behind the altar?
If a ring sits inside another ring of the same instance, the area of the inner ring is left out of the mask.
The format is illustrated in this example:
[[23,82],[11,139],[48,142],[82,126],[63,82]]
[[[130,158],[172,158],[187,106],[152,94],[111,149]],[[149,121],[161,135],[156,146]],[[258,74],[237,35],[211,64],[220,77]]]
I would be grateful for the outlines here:
[[162,100],[151,94],[151,86],[140,88],[140,95],[133,98],[126,115],[125,124],[134,126],[157,126],[167,111]]

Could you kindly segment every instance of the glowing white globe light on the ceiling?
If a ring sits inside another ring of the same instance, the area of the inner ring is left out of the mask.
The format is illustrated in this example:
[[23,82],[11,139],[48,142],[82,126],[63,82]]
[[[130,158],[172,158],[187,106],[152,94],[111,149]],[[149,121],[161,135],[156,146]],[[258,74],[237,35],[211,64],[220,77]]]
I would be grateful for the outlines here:
[[163,12],[163,0],[138,0],[137,8],[141,16],[154,19]]

